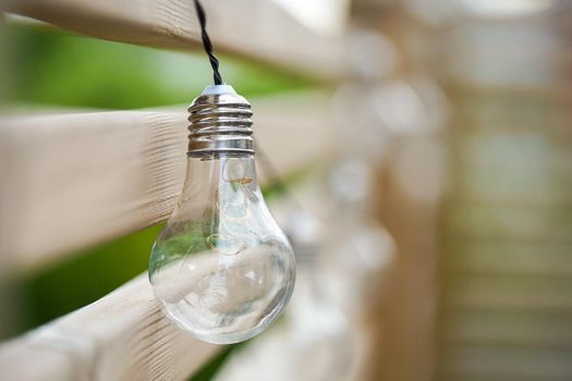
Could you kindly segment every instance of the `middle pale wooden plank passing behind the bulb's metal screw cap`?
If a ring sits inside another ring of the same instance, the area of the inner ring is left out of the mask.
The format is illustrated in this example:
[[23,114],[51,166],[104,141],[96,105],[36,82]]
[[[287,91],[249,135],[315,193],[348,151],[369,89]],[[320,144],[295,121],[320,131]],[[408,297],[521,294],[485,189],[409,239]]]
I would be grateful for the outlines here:
[[[325,94],[253,102],[256,142],[278,171],[328,155],[328,107]],[[0,120],[1,276],[165,220],[182,187],[186,124],[186,111]]]

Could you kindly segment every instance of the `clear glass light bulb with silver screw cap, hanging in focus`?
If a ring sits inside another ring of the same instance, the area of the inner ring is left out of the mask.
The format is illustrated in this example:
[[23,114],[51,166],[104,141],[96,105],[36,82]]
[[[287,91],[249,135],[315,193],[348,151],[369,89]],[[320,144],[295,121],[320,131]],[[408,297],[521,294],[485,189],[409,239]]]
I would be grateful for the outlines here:
[[181,329],[236,343],[268,328],[288,304],[294,253],[256,180],[250,103],[215,85],[188,111],[186,180],[153,247],[149,280]]

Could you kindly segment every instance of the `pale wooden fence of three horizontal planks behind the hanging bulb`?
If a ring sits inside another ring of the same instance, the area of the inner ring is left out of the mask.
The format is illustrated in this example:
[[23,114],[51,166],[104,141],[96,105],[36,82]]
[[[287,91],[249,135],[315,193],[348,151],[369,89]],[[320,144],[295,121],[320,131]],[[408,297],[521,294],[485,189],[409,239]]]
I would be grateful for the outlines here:
[[[199,49],[187,0],[14,0],[1,5],[3,12],[102,39]],[[340,41],[309,32],[271,1],[219,0],[205,8],[220,50],[317,78],[342,74]],[[257,140],[282,173],[329,155],[328,97],[303,97],[303,102],[296,101],[300,95],[254,102]],[[2,282],[165,220],[182,186],[186,134],[184,111],[2,118]],[[294,140],[302,134],[304,139]],[[142,274],[2,344],[0,379],[179,380],[218,348],[177,330]]]

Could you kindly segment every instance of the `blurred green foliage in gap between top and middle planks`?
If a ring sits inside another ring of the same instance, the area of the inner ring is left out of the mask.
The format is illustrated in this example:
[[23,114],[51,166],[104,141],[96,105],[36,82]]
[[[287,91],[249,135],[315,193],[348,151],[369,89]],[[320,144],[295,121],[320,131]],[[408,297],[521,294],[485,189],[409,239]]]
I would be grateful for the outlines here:
[[[211,83],[202,53],[104,41],[46,27],[9,25],[9,101],[105,109],[190,103]],[[308,85],[294,75],[221,57],[224,81],[243,95]]]

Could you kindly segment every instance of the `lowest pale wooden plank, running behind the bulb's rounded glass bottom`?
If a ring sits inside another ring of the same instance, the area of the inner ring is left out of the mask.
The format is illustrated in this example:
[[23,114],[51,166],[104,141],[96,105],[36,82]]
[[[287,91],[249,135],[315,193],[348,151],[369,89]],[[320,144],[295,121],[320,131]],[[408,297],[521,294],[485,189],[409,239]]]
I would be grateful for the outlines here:
[[185,380],[219,348],[168,321],[143,274],[0,346],[0,379]]

